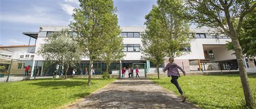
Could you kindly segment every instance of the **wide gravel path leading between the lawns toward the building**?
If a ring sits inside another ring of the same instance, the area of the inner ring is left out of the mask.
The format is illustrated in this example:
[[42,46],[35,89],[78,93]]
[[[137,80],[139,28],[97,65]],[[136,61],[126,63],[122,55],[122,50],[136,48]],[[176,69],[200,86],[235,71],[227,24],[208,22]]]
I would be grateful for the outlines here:
[[[171,84],[170,84],[171,85]],[[119,79],[89,96],[71,104],[68,108],[197,108],[186,101],[181,102],[177,94],[152,83],[146,78]]]

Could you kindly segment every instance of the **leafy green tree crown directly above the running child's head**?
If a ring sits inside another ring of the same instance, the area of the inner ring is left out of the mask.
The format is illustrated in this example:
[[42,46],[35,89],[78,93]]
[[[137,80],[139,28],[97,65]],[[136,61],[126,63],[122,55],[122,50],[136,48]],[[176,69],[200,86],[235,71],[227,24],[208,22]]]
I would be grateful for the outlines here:
[[186,54],[183,51],[186,47],[190,47],[192,36],[190,36],[190,24],[183,13],[186,8],[181,1],[161,1],[158,0],[160,13],[163,15],[163,23],[165,23],[166,41],[168,48],[166,49],[167,57],[180,57]]

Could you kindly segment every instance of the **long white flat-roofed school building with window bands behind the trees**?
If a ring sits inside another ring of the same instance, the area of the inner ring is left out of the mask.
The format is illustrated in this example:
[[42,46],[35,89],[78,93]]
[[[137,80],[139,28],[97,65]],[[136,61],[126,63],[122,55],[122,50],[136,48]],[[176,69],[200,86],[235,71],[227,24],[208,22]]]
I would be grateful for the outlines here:
[[[52,32],[60,31],[69,26],[40,26],[39,32],[23,32],[24,35],[35,38],[36,46],[33,49],[34,52],[38,51],[38,47],[44,43],[44,39],[51,35]],[[147,67],[147,72],[156,72],[156,65],[143,59],[142,48],[142,33],[145,32],[145,26],[121,26],[124,44],[124,53],[126,56],[120,62],[113,63],[110,66],[109,72],[114,72],[120,69],[120,63],[122,67],[130,67],[138,65],[139,67]],[[212,28],[191,28],[191,35],[194,37],[190,46],[184,48],[184,55],[177,57],[174,61],[183,67],[185,71],[193,70],[226,70],[227,65],[230,64],[232,69],[237,69],[237,60],[234,51],[228,51],[225,44],[231,42],[230,37],[225,35],[218,35],[214,33]],[[72,32],[72,31],[70,31]],[[35,54],[33,58],[33,66],[36,62],[45,62],[45,59]],[[144,63],[144,64],[141,64]],[[161,70],[164,65],[161,65]],[[84,69],[89,67],[89,59],[82,59],[82,62],[75,66],[76,69]],[[96,73],[102,73],[105,71],[105,64],[102,62],[95,62],[93,68],[96,69]],[[54,69],[54,67],[53,67]],[[53,71],[50,70],[50,71]],[[33,69],[32,69],[33,70]]]

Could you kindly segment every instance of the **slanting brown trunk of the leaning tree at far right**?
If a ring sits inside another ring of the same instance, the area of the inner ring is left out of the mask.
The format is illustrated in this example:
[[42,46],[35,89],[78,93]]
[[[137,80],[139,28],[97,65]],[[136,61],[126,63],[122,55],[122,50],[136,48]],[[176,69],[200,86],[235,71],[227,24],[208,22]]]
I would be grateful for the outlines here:
[[242,54],[242,48],[238,41],[238,36],[235,35],[235,37],[232,38],[232,42],[234,43],[235,56],[237,56],[239,74],[240,74],[240,79],[241,79],[241,83],[242,83],[242,88],[244,90],[246,106],[253,107],[254,100],[252,97],[251,88],[249,85],[249,81],[248,81],[248,77],[247,77],[247,73],[246,73],[246,69],[245,69],[245,64],[243,62],[244,57]]

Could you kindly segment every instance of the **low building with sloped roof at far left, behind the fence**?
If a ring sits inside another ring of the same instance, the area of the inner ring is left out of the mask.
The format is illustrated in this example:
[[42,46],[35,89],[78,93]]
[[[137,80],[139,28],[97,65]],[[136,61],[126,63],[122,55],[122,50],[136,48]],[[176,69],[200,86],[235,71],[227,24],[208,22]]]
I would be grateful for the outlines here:
[[[35,47],[35,45],[0,46],[0,66],[2,68],[0,73],[8,72],[9,67],[11,67],[11,75],[24,74],[25,67],[27,65],[32,66],[35,56],[34,53],[28,52],[28,47]],[[31,70],[29,71],[31,72]]]

